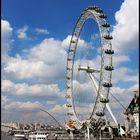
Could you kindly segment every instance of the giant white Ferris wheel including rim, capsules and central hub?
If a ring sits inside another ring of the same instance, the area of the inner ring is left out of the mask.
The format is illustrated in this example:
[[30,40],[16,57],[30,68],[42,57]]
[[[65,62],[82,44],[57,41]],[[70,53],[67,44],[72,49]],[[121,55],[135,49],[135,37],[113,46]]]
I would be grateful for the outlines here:
[[[94,20],[99,28],[101,42],[100,68],[97,69],[96,67],[92,67],[89,64],[88,66],[85,66],[82,63],[80,63],[78,67],[76,67],[79,72],[85,72],[87,76],[89,76],[96,93],[95,104],[92,108],[89,119],[81,121],[77,117],[77,112],[74,105],[74,66],[76,65],[75,55],[77,53],[78,40],[80,38],[82,28],[88,19]],[[112,50],[112,36],[110,35],[109,28],[110,25],[106,22],[106,15],[103,13],[103,10],[97,6],[87,7],[84,12],[81,13],[74,28],[70,40],[66,66],[66,106],[68,110],[67,115],[70,118],[73,126],[70,129],[81,129],[84,124],[87,124],[87,126],[89,126],[92,120],[96,120],[96,122],[98,122],[105,115],[105,107],[109,102],[108,96],[110,88],[112,87],[112,70],[114,69],[112,66],[112,55],[114,54],[114,51]],[[96,79],[96,74],[99,75],[98,80]]]

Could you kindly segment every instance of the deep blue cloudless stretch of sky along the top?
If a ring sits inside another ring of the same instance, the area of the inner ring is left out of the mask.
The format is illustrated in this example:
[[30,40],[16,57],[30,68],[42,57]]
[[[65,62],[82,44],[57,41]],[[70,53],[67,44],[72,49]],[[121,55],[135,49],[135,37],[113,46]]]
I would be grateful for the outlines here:
[[[71,34],[75,22],[85,7],[91,4],[99,5],[109,16],[110,24],[115,24],[114,13],[119,9],[122,0],[114,4],[113,1],[65,1],[41,0],[41,1],[3,1],[2,18],[12,23],[13,28],[21,28],[23,25],[30,27],[30,34],[36,27],[46,28],[50,31],[50,37],[60,40]],[[65,24],[63,24],[65,23]],[[44,36],[42,36],[43,38]],[[40,41],[41,37],[36,40]],[[35,43],[36,43],[35,42]]]

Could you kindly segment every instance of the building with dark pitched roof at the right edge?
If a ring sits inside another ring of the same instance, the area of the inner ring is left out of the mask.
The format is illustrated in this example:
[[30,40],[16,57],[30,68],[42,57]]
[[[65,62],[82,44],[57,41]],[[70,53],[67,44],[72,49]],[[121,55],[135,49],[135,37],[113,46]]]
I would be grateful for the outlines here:
[[124,112],[126,135],[139,135],[139,91],[135,91],[134,97]]

